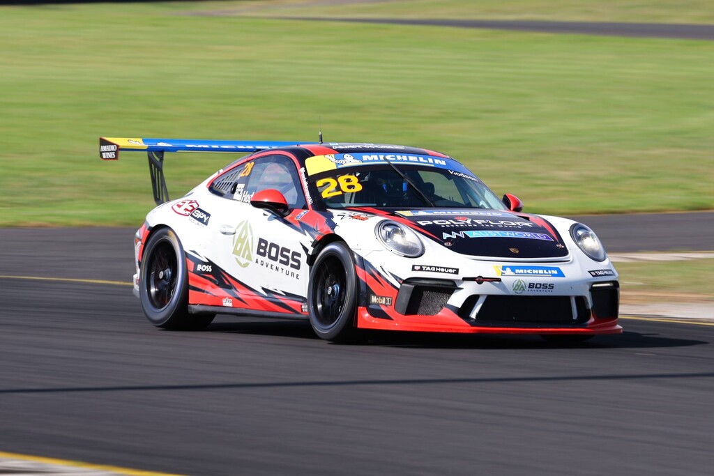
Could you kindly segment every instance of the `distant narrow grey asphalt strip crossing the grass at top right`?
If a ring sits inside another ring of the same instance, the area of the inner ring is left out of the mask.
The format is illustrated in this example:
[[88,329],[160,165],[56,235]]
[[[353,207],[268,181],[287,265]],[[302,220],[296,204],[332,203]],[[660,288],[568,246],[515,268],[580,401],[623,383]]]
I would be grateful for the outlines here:
[[622,23],[607,21],[373,19],[299,16],[282,18],[309,21],[350,21],[373,24],[451,26],[453,28],[532,31],[535,33],[714,40],[714,25],[697,24]]

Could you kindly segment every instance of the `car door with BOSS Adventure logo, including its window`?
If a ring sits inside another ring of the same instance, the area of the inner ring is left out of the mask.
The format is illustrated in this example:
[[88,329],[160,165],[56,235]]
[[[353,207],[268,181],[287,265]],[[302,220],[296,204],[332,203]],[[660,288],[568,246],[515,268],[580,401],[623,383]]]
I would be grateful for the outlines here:
[[223,285],[235,291],[233,307],[302,313],[309,278],[303,246],[311,238],[288,219],[250,205],[253,194],[266,188],[281,191],[291,208],[298,206],[291,216],[306,206],[291,158],[256,158],[243,166],[231,195],[221,198],[206,253],[228,273]]

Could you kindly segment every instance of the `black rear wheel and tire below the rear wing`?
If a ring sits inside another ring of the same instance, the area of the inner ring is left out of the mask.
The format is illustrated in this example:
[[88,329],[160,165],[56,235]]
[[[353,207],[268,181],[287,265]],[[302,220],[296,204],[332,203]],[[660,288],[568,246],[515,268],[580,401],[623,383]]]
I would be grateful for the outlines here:
[[156,327],[199,330],[213,321],[215,314],[188,313],[186,256],[171,228],[161,228],[149,238],[140,277],[141,308]]

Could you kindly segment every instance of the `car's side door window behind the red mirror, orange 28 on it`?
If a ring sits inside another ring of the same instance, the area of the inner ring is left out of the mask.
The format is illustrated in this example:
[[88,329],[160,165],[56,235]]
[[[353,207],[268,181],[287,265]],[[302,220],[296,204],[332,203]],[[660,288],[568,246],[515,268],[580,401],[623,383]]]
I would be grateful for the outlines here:
[[273,188],[291,208],[307,208],[295,164],[286,156],[266,156],[246,163],[238,173],[233,198],[249,202],[253,193]]

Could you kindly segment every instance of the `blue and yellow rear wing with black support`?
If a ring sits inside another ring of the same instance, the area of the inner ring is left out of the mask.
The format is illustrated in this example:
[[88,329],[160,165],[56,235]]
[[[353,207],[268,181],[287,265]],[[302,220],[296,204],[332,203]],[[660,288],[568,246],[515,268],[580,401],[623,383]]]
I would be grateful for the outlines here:
[[156,205],[169,201],[169,191],[164,178],[164,152],[232,152],[253,153],[269,148],[296,146],[288,141],[203,141],[193,139],[156,139],[100,137],[99,158],[119,160],[119,152],[146,152],[149,156],[151,188]]

